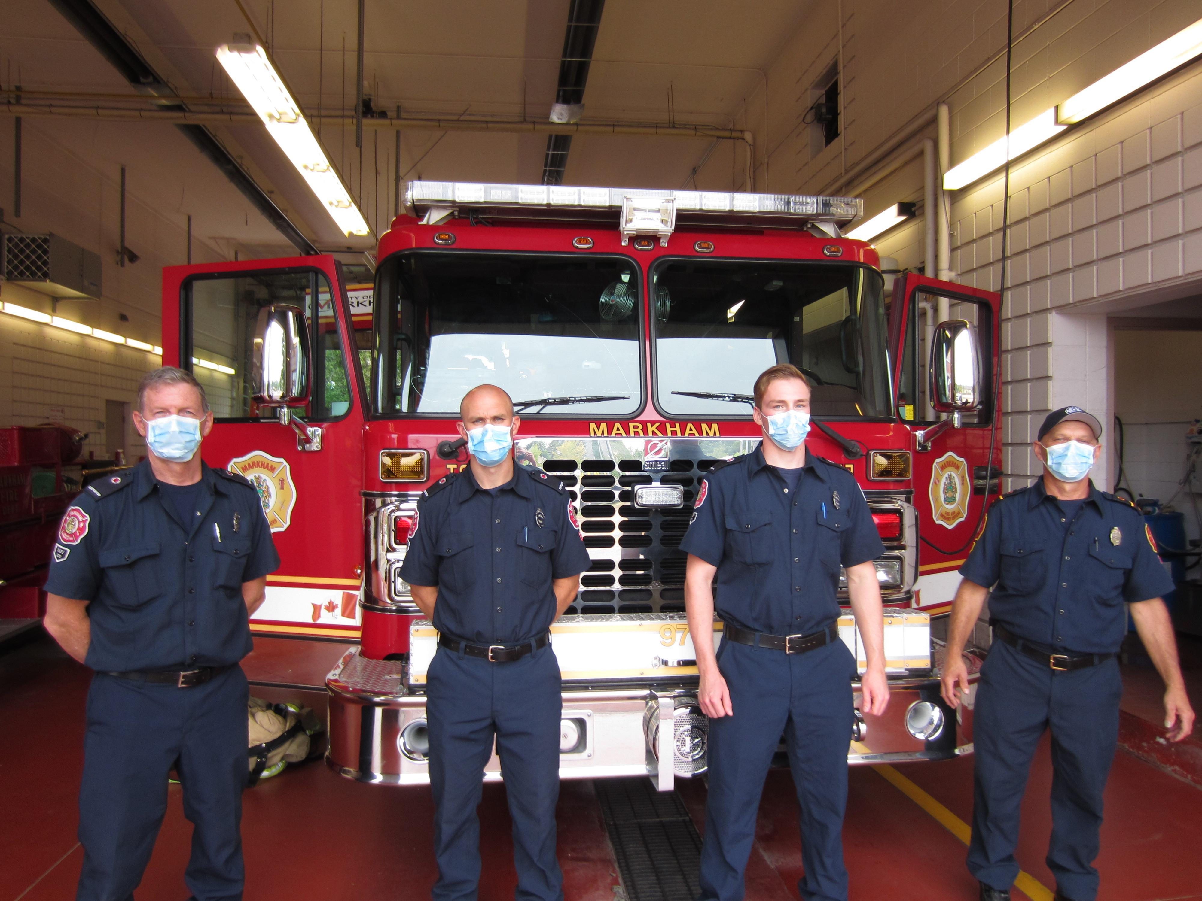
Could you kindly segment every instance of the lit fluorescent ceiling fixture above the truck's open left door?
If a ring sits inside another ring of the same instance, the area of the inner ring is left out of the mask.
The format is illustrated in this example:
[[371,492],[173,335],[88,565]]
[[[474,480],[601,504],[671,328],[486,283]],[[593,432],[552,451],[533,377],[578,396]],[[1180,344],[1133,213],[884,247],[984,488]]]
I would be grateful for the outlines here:
[[267,52],[258,44],[227,43],[218,48],[218,60],[343,234],[370,234],[367,220],[355,205],[350,191],[305,121],[300,105],[293,100]]

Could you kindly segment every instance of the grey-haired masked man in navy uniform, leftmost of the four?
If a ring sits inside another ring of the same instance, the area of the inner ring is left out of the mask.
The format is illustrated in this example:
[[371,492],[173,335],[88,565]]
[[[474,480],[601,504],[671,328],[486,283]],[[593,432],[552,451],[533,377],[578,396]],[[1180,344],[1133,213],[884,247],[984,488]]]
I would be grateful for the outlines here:
[[59,526],[46,628],[91,667],[77,901],[126,901],[183,784],[194,901],[242,897],[249,615],[280,563],[258,494],[201,461],[204,389],[165,366],[142,378],[133,424],[149,457],[101,478]]

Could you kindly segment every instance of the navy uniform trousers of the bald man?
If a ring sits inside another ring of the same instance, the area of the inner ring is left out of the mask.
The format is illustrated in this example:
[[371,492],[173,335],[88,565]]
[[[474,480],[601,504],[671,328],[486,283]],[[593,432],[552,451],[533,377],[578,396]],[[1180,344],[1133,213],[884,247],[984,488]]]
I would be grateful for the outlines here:
[[513,821],[517,901],[560,901],[555,859],[559,800],[559,662],[551,645],[512,663],[489,663],[439,648],[430,662],[426,716],[434,794],[435,901],[474,901],[480,885],[484,766],[493,753]]

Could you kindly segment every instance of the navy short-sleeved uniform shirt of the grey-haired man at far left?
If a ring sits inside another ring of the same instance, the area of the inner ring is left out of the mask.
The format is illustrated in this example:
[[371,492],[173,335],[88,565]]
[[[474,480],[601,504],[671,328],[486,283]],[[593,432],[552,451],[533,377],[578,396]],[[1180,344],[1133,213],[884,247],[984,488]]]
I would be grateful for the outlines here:
[[194,506],[182,520],[144,460],[94,482],[63,517],[46,590],[91,602],[93,669],[221,667],[250,654],[242,584],[280,565],[258,494],[203,466]]

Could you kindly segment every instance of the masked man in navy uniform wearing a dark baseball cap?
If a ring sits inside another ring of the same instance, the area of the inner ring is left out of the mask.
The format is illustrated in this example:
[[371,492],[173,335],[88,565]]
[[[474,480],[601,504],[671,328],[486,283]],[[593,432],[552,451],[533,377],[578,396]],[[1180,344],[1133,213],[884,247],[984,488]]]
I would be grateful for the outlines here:
[[[989,599],[993,645],[977,684],[969,871],[983,901],[1010,897],[1014,846],[1031,758],[1052,732],[1052,841],[1057,899],[1097,895],[1102,793],[1118,741],[1118,652],[1127,611],[1167,687],[1165,726],[1194,727],[1160,596],[1173,589],[1152,532],[1129,502],[1087,478],[1102,426],[1081,407],[1048,413],[1033,444],[1043,476],[990,509],[960,568],[952,605],[944,698],[968,691],[964,643]],[[993,591],[990,593],[990,586]],[[1126,602],[1124,604],[1124,602]]]

